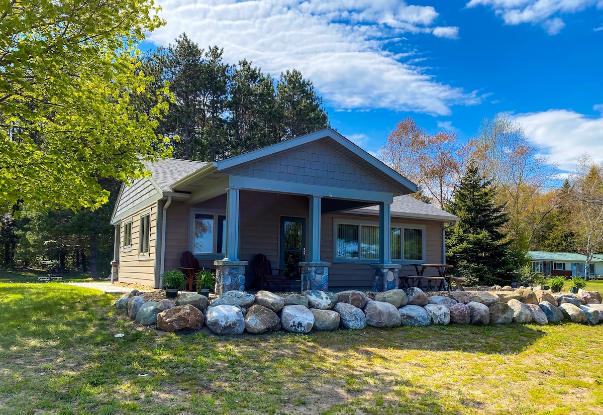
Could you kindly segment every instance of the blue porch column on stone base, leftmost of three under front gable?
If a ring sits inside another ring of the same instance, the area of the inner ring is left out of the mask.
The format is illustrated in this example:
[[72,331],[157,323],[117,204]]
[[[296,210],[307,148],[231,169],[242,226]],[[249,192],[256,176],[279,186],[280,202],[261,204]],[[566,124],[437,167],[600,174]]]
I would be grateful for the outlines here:
[[227,291],[245,290],[245,265],[247,261],[239,261],[239,190],[226,189],[226,249],[225,258],[213,261],[216,266],[215,293],[219,295]]

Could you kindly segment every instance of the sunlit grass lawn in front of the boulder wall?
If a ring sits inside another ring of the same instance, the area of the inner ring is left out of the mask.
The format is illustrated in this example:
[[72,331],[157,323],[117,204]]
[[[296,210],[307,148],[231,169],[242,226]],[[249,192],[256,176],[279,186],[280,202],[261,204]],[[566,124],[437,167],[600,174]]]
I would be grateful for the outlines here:
[[0,284],[0,413],[603,413],[603,326],[218,338],[140,328],[114,298]]

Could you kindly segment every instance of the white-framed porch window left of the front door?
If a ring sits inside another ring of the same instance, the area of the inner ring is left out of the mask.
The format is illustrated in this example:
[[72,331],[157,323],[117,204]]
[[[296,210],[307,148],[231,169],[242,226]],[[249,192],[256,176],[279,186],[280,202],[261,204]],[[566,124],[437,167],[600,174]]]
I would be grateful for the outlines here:
[[226,216],[213,213],[194,213],[192,253],[224,253],[226,243]]

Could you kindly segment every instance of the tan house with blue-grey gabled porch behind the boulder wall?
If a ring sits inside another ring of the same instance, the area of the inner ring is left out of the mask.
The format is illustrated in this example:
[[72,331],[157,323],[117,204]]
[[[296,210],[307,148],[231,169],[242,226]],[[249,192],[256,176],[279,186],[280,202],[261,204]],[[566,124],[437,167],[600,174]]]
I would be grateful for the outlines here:
[[457,217],[408,194],[417,186],[327,128],[214,163],[166,159],[122,186],[114,276],[159,288],[190,251],[218,293],[253,283],[264,253],[305,288],[397,285],[409,264],[444,262]]

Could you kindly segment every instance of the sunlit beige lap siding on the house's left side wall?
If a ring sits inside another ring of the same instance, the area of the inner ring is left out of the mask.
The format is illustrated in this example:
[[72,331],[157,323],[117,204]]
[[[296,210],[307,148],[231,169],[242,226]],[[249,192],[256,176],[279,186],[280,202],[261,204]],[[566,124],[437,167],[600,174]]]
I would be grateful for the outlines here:
[[[151,212],[149,253],[144,257],[139,255],[140,248],[140,216]],[[132,221],[132,240],[130,251],[124,251],[124,226],[127,221]],[[131,284],[154,285],[155,252],[157,235],[157,203],[140,209],[133,215],[121,221],[120,252],[119,252],[119,282]]]

